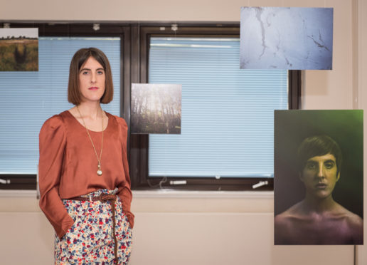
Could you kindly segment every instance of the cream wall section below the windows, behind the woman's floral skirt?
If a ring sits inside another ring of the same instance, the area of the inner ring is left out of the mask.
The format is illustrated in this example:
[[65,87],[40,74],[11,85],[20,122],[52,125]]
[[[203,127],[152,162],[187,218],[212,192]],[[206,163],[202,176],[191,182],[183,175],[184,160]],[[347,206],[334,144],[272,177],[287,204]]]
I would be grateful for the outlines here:
[[[1,264],[53,263],[53,228],[35,196],[35,192],[0,193]],[[272,196],[272,192],[134,192],[136,221],[129,264],[353,264],[353,246],[273,246]]]

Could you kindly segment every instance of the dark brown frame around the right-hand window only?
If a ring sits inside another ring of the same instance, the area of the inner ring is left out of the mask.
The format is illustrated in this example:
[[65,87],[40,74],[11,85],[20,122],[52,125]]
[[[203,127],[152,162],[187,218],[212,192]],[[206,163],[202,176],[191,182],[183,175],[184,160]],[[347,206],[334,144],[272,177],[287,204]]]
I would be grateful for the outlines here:
[[[164,30],[161,27],[166,27]],[[168,29],[167,29],[168,28]],[[141,26],[135,30],[139,33],[138,61],[134,61],[132,69],[137,69],[132,83],[148,83],[149,76],[149,41],[152,36],[180,36],[180,37],[240,37],[239,24],[211,24],[192,26],[180,24],[178,30],[172,31],[171,24],[159,26]],[[289,110],[301,108],[301,73],[289,71],[288,76],[288,105]],[[221,179],[208,177],[149,177],[149,135],[130,135],[130,178],[132,189],[189,189],[189,190],[252,190],[252,185],[260,181],[268,184],[256,190],[273,190],[274,179],[260,177],[226,177]],[[131,170],[134,169],[134,170]],[[185,185],[170,185],[172,180],[184,180]]]

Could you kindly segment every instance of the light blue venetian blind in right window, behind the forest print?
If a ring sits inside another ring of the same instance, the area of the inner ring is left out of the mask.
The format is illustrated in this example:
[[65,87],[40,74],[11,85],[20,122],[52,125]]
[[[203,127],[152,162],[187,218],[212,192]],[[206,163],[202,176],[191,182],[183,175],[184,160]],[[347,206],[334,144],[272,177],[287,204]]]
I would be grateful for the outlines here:
[[182,84],[181,135],[149,135],[149,176],[272,177],[287,71],[240,70],[239,38],[151,38],[149,83]]

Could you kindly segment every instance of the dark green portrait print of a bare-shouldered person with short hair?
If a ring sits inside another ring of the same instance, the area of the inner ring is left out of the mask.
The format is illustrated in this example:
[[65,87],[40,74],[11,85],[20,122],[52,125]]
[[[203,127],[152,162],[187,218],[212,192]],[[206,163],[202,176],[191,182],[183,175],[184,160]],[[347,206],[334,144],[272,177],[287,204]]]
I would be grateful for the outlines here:
[[363,110],[275,110],[275,244],[363,244]]

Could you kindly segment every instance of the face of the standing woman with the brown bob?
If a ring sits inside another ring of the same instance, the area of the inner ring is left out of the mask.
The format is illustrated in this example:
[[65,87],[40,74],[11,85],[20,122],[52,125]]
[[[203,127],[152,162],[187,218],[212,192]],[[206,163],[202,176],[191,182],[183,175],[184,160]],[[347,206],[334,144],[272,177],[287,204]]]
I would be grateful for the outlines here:
[[82,102],[100,101],[105,93],[105,69],[90,56],[79,71],[79,90]]

